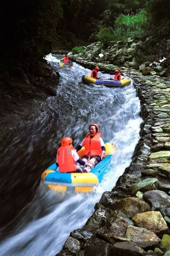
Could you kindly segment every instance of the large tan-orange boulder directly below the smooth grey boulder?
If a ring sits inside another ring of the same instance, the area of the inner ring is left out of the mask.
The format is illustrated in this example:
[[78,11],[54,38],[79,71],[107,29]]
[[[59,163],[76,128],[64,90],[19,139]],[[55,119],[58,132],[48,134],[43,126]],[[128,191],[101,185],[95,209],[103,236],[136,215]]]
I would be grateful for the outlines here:
[[137,213],[132,217],[135,225],[144,227],[158,236],[168,233],[168,226],[159,211],[147,211]]

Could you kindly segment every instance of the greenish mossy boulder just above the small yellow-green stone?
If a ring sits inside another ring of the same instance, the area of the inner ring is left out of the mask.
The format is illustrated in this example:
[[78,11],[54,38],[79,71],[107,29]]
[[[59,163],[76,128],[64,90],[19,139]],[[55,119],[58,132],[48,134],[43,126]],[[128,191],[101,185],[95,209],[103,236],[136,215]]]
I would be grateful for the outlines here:
[[131,191],[132,194],[135,195],[139,190],[141,192],[145,192],[148,190],[155,190],[158,187],[158,179],[156,178],[148,178],[148,179],[144,179],[138,183],[136,183],[135,185],[131,186]]

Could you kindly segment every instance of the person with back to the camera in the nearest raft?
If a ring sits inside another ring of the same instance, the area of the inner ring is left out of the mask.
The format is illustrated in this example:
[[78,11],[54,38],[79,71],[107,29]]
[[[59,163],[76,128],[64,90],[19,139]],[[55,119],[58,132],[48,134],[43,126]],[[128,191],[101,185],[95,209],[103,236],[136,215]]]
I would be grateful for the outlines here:
[[71,144],[72,142],[73,140],[70,137],[64,137],[61,139],[61,147],[58,148],[56,155],[56,166],[59,166],[59,172],[76,171],[78,169],[76,162],[92,168],[92,163],[86,163],[78,156]]

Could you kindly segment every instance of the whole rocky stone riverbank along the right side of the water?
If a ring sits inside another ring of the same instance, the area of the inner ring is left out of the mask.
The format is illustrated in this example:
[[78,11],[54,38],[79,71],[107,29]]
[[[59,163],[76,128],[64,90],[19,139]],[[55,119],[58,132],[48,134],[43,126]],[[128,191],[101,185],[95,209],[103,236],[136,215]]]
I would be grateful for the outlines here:
[[[85,67],[97,64],[110,74],[117,68],[107,60],[73,58]],[[103,193],[85,226],[70,233],[56,256],[170,255],[170,83],[160,74],[168,71],[150,70],[144,76],[141,71],[148,67],[136,68],[119,68],[133,76],[141,101],[141,138],[131,165],[112,191]]]

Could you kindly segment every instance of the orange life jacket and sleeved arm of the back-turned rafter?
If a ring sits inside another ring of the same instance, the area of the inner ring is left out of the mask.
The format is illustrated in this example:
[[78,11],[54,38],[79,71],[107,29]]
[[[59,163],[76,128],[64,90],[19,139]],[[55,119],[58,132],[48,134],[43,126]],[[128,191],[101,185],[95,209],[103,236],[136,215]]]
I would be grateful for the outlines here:
[[83,161],[73,150],[73,146],[61,146],[57,150],[56,155],[56,165],[59,166],[59,172],[74,172],[77,167],[75,162],[78,162],[81,165],[85,165]]

